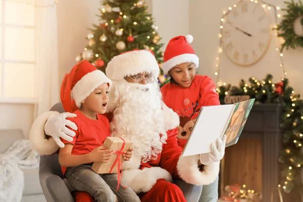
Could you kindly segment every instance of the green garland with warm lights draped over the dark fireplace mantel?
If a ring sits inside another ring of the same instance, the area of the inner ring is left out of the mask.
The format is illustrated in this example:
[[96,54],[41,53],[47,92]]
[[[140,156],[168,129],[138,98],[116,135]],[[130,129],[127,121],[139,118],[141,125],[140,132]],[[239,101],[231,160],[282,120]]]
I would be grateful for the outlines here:
[[[279,162],[281,163],[281,184],[286,193],[299,196],[302,192],[301,172],[303,168],[303,155],[301,153],[303,142],[303,100],[299,94],[288,86],[288,79],[281,79],[279,83],[272,83],[273,76],[267,75],[263,80],[255,77],[249,78],[249,83],[240,81],[239,87],[230,84],[217,88],[220,102],[228,94],[249,95],[256,98],[256,103],[276,103],[283,107],[281,116],[281,129],[283,130],[282,150]],[[277,185],[278,186],[278,185]]]

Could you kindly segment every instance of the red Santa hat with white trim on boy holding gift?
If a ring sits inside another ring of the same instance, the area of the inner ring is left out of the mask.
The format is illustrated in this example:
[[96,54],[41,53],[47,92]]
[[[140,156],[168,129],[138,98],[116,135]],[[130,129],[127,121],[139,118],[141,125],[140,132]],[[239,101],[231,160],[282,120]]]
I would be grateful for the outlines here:
[[76,111],[81,102],[103,83],[108,83],[109,87],[112,85],[112,81],[88,61],[79,62],[64,76],[61,85],[60,96],[65,111]]

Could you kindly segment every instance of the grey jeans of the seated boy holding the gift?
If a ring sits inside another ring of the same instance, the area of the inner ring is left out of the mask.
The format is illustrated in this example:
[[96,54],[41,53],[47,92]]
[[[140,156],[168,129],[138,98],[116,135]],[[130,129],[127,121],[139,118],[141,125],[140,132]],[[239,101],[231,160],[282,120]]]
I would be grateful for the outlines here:
[[[79,165],[67,168],[65,177],[75,190],[88,192],[96,202],[115,202],[115,195],[119,201],[140,202],[140,198],[132,188],[123,188],[121,182],[118,191],[116,191],[117,174],[96,174],[91,170],[90,165]],[[122,183],[127,186],[124,181]]]

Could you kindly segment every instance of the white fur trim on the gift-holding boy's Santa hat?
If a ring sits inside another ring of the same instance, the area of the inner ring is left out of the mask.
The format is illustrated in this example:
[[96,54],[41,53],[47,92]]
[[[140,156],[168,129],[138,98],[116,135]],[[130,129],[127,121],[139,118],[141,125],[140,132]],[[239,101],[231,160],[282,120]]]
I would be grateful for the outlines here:
[[77,107],[80,108],[81,102],[103,83],[109,83],[110,87],[112,85],[112,81],[100,70],[89,72],[83,76],[72,89],[72,96]]

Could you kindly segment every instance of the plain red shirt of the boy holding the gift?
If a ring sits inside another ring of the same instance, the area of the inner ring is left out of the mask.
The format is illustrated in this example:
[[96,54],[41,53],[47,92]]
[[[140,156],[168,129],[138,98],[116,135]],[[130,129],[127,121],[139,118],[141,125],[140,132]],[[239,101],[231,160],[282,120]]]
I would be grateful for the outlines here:
[[[97,114],[97,120],[92,120],[84,116],[79,110],[75,111],[74,114],[77,117],[67,118],[78,127],[77,130],[69,128],[76,133],[73,141],[69,142],[61,138],[63,143],[74,145],[72,155],[88,154],[96,147],[103,145],[106,137],[111,136],[110,122],[105,116]],[[67,167],[61,168],[64,175]]]

